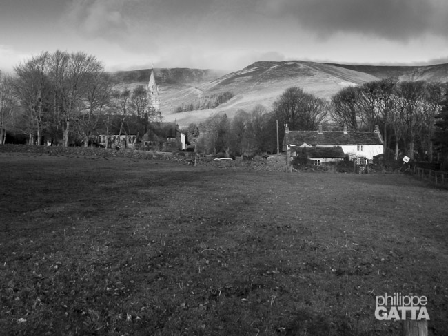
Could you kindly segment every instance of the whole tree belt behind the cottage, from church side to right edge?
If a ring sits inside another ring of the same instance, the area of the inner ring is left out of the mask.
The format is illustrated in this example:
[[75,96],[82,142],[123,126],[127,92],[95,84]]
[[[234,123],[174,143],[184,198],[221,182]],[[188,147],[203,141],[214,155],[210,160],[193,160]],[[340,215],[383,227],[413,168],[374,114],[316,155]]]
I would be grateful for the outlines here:
[[447,89],[447,83],[385,78],[345,87],[325,101],[289,87],[270,111],[256,105],[250,112],[238,110],[233,119],[221,112],[198,125],[190,124],[184,132],[206,154],[251,156],[276,152],[277,123],[280,149],[285,124],[301,131],[316,131],[318,125],[342,130],[345,125],[355,132],[373,131],[378,125],[387,156],[432,161],[434,147],[440,151],[448,143],[443,128],[448,128]]

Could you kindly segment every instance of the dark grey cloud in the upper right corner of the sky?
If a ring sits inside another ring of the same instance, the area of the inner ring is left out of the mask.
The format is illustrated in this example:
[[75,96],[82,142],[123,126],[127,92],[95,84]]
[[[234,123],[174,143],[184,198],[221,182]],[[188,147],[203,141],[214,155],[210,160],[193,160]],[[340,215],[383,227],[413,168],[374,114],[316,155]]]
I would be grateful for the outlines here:
[[438,0],[281,0],[276,10],[323,37],[352,32],[407,41],[448,30],[448,3]]

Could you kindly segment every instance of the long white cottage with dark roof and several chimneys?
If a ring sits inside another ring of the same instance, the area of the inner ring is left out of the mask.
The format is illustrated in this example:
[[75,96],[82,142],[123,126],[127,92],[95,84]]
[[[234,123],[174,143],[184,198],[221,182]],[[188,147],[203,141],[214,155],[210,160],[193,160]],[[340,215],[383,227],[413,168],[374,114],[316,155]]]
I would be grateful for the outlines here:
[[[323,131],[319,125],[318,131],[290,131],[285,127],[285,138],[283,139],[283,150],[291,150],[294,147],[340,147],[349,160],[365,158],[372,160],[374,156],[383,154],[383,137],[378,125],[373,132],[347,131]],[[332,158],[325,158],[325,161]],[[340,156],[334,157],[340,160]]]

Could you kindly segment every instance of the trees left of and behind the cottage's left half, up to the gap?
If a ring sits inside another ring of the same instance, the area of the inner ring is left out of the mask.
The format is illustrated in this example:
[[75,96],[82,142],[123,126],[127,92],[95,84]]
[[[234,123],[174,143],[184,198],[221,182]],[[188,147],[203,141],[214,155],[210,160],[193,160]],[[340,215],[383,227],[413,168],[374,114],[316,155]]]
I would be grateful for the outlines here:
[[290,87],[276,99],[271,111],[257,104],[249,112],[238,109],[233,118],[218,112],[203,123],[191,123],[183,132],[196,146],[196,151],[205,154],[276,153],[278,147],[281,151],[286,123],[298,130],[314,130],[322,123],[327,127],[328,108],[329,103],[322,98],[299,87]]

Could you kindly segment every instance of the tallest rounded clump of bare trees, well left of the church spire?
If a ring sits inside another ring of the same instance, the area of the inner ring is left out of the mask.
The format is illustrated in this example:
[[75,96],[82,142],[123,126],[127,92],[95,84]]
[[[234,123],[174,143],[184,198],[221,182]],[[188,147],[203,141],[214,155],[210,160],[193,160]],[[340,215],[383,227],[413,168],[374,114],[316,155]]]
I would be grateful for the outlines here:
[[110,80],[94,56],[83,52],[41,52],[14,67],[12,91],[21,116],[18,130],[30,144],[43,133],[63,145],[76,136],[87,145],[108,103]]

